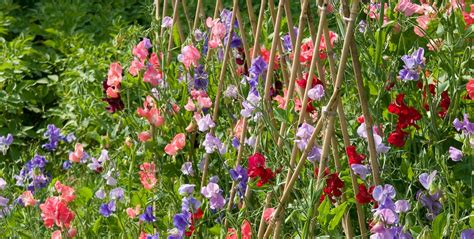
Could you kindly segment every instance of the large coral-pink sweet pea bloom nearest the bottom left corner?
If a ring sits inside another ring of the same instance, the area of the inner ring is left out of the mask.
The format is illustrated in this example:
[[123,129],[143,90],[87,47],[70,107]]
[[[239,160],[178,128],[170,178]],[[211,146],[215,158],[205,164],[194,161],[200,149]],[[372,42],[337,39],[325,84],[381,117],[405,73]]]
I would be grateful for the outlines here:
[[69,228],[75,216],[67,204],[58,197],[47,198],[39,207],[46,228],[52,228],[54,224],[60,228]]

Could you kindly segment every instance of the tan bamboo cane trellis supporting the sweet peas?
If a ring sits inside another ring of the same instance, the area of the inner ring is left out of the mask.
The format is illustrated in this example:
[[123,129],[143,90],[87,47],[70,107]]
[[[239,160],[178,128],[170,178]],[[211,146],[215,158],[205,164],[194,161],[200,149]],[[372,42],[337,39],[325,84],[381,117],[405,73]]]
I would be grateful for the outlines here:
[[[184,42],[184,34],[183,34],[183,28],[179,22],[181,12],[184,13],[185,19],[186,19],[186,26],[188,27],[189,33],[193,34],[195,29],[198,29],[200,24],[204,23],[204,18],[206,16],[206,13],[204,12],[203,9],[203,1],[198,0],[196,4],[196,9],[195,9],[195,15],[194,15],[194,20],[191,22],[192,16],[189,16],[189,12],[187,9],[189,9],[189,6],[186,5],[185,1],[181,1],[182,5],[181,8],[179,7],[179,0],[155,0],[155,7],[156,7],[156,13],[155,17],[159,21],[162,19],[164,16],[166,16],[166,12],[168,11],[167,8],[169,7],[168,1],[171,1],[171,7],[172,7],[172,18],[173,18],[173,25],[176,27],[178,34],[179,34],[179,40],[180,42]],[[161,3],[162,6],[161,6]],[[336,171],[340,172],[342,170],[342,164],[340,161],[340,146],[338,142],[338,138],[336,137],[336,120],[339,122],[339,129],[342,134],[342,141],[344,148],[347,148],[348,146],[351,145],[350,143],[350,138],[349,138],[349,131],[348,131],[348,126],[347,126],[347,120],[344,112],[344,105],[341,100],[341,88],[344,86],[344,73],[346,70],[346,66],[348,62],[351,62],[352,68],[354,70],[354,76],[356,80],[356,87],[358,90],[358,96],[359,96],[359,102],[361,105],[361,111],[365,119],[365,124],[366,124],[366,131],[368,135],[368,151],[369,151],[369,158],[370,158],[370,164],[371,164],[371,169],[372,169],[372,178],[373,178],[373,183],[375,185],[379,185],[381,183],[380,179],[380,172],[379,172],[379,165],[377,161],[377,153],[376,153],[376,146],[374,142],[374,137],[373,137],[373,132],[372,132],[372,126],[373,122],[370,117],[370,109],[368,107],[368,99],[367,95],[364,89],[364,81],[363,77],[361,74],[361,65],[360,61],[358,58],[358,52],[357,52],[357,46],[354,40],[354,26],[355,26],[355,20],[357,18],[357,15],[359,13],[359,5],[360,5],[360,0],[352,0],[351,1],[351,6],[349,6],[349,3],[347,0],[342,0],[340,1],[341,3],[341,13],[334,12],[334,13],[328,13],[328,0],[314,0],[314,3],[318,6],[318,18],[313,18],[311,16],[311,13],[309,12],[309,5],[310,5],[310,0],[302,0],[301,1],[301,7],[300,7],[300,15],[298,17],[298,31],[299,34],[295,35],[293,31],[293,18],[291,16],[291,10],[290,10],[290,0],[279,0],[278,4],[276,5],[276,12],[275,12],[275,3],[273,0],[261,0],[260,1],[260,10],[258,12],[258,15],[255,15],[254,12],[254,4],[252,3],[251,0],[246,0],[245,6],[242,4],[241,1],[239,0],[233,0],[232,1],[232,6],[224,6],[221,0],[216,0],[215,2],[215,7],[214,7],[214,13],[213,17],[216,18],[219,15],[219,12],[222,10],[223,7],[229,7],[232,10],[232,17],[231,17],[231,23],[230,23],[230,33],[229,36],[232,34],[234,31],[234,21],[238,21],[239,25],[239,36],[242,39],[243,42],[243,48],[244,48],[244,53],[245,53],[245,60],[246,64],[248,67],[252,64],[252,60],[255,59],[259,55],[259,49],[261,45],[261,33],[262,33],[262,28],[263,28],[263,23],[265,21],[265,14],[266,10],[270,12],[271,15],[271,24],[273,26],[273,39],[271,42],[271,48],[269,49],[270,52],[270,60],[268,62],[268,68],[266,71],[266,77],[265,77],[265,83],[264,83],[264,94],[262,97],[262,103],[263,103],[263,109],[267,113],[269,117],[269,121],[267,125],[265,124],[259,124],[258,127],[271,127],[273,129],[276,129],[278,133],[272,133],[271,137],[273,137],[273,140],[275,140],[275,143],[278,147],[281,147],[282,144],[284,143],[285,138],[287,137],[288,133],[288,127],[290,126],[291,128],[294,128],[295,131],[297,130],[298,125],[300,125],[303,122],[311,123],[311,120],[309,119],[308,115],[306,114],[306,105],[309,102],[309,97],[308,97],[308,91],[311,88],[312,84],[312,78],[315,76],[317,73],[318,79],[324,82],[326,86],[329,86],[332,84],[333,92],[332,94],[327,97],[327,102],[324,107],[321,109],[321,115],[317,122],[314,124],[314,132],[311,135],[311,138],[306,146],[306,148],[302,151],[299,152],[298,147],[296,146],[296,143],[293,142],[292,150],[291,150],[291,156],[285,162],[285,167],[284,171],[286,171],[286,178],[284,181],[283,186],[281,187],[281,191],[279,190],[274,190],[274,191],[269,191],[266,196],[266,200],[263,203],[262,207],[263,209],[270,207],[272,204],[275,205],[276,210],[273,214],[272,219],[268,223],[268,225],[265,224],[263,220],[263,215],[260,219],[259,227],[258,227],[258,238],[269,238],[270,236],[273,235],[273,238],[279,238],[281,236],[281,230],[283,228],[283,217],[285,215],[285,209],[287,206],[288,201],[290,200],[291,193],[293,191],[293,188],[295,184],[297,183],[297,179],[300,176],[300,173],[302,169],[304,168],[306,164],[306,158],[308,154],[310,153],[312,147],[315,145],[316,140],[319,138],[319,136],[322,135],[321,137],[321,142],[322,142],[322,153],[321,153],[321,159],[319,161],[319,165],[315,165],[318,168],[318,175],[316,179],[316,188],[321,188],[323,185],[323,171],[328,165],[328,158],[330,153],[332,152],[332,158],[334,160],[334,165],[336,168]],[[240,4],[240,5],[239,5]],[[295,4],[291,2],[291,4]],[[160,7],[162,7],[162,14],[160,16]],[[245,22],[242,18],[242,13],[240,12],[239,7],[245,7],[246,8],[246,14],[248,16],[248,22]],[[180,12],[181,10],[181,12]],[[338,15],[341,19],[344,21],[344,27],[345,27],[345,35],[341,39],[343,42],[343,47],[340,52],[340,58],[338,61],[334,59],[334,50],[331,47],[330,43],[330,35],[329,35],[329,28],[328,28],[328,21],[327,21],[327,16],[328,14],[335,14]],[[292,50],[291,52],[294,54],[293,59],[290,59],[285,55],[285,52],[283,51],[282,47],[282,40],[280,39],[280,32],[282,31],[281,25],[282,25],[282,19],[286,17],[286,25],[288,26],[288,32],[290,35],[291,43],[292,43]],[[258,20],[257,20],[258,19]],[[315,21],[318,21],[317,24],[317,29],[315,29],[316,24],[313,24]],[[247,26],[248,28],[245,28]],[[296,79],[299,79],[302,77],[302,67],[300,64],[300,61],[298,60],[298,57],[301,53],[301,46],[302,46],[302,40],[304,37],[304,30],[308,27],[308,30],[311,35],[311,40],[313,41],[313,46],[314,46],[314,51],[313,51],[313,57],[311,59],[311,63],[309,65],[309,70],[308,70],[308,78],[306,82],[306,88],[304,89],[303,92],[299,91],[299,89],[295,89],[295,81]],[[165,37],[164,36],[165,32],[162,30],[159,34],[160,38]],[[248,35],[247,35],[248,34]],[[250,38],[248,36],[251,36]],[[172,44],[173,44],[173,32],[169,32],[169,42],[168,42],[168,47],[167,47],[167,52],[166,52],[166,61],[169,63],[171,59],[171,54],[172,54]],[[321,40],[324,38],[324,43],[326,46],[326,51],[328,54],[327,57],[327,65],[329,66],[329,74],[328,78],[329,81],[326,81],[326,70],[325,70],[325,65],[326,62],[324,62],[322,59],[319,58],[319,46],[321,44]],[[194,42],[194,38],[192,37],[192,41]],[[217,123],[218,117],[219,117],[219,104],[221,101],[221,96],[222,92],[224,89],[224,85],[226,84],[225,79],[226,75],[228,74],[229,70],[229,65],[232,66],[233,64],[229,64],[229,58],[231,56],[230,54],[230,40],[227,41],[227,43],[224,46],[224,57],[222,61],[222,67],[220,68],[220,73],[219,73],[219,78],[218,78],[218,89],[217,93],[215,96],[214,104],[213,104],[213,110],[212,110],[212,119],[214,122]],[[249,44],[253,42],[253,48],[252,52],[250,52],[250,49],[248,48]],[[272,84],[274,83],[273,79],[275,76],[275,70],[274,70],[274,61],[273,59],[277,54],[280,54],[282,56],[280,58],[280,65],[281,65],[281,72],[282,72],[282,78],[283,82],[288,90],[288,93],[285,97],[285,102],[287,102],[284,105],[284,110],[289,110],[288,109],[288,102],[292,101],[294,99],[294,94],[295,92],[298,94],[299,98],[302,99],[301,101],[301,106],[302,109],[298,115],[298,120],[293,122],[294,125],[287,125],[286,122],[282,122],[279,127],[277,127],[276,121],[273,117],[272,114],[272,99],[270,96],[270,88]],[[208,51],[208,54],[206,56],[206,59],[209,59],[211,57],[211,51]],[[349,61],[350,59],[350,61]],[[248,125],[248,119],[247,118],[242,118],[243,121],[242,124],[242,135],[240,136],[240,147],[237,150],[237,156],[236,156],[236,165],[241,164],[242,159],[245,156],[249,156],[252,151],[250,150],[245,150],[245,139],[247,137],[248,131],[249,131],[249,125]],[[290,128],[290,129],[291,129]],[[270,129],[270,132],[275,132],[273,129]],[[211,134],[215,133],[215,128],[211,129],[210,131]],[[194,136],[193,136],[194,139]],[[261,137],[257,138],[257,141],[261,140]],[[259,142],[255,144],[255,147],[253,149],[253,152],[258,151],[258,145]],[[203,173],[201,177],[201,187],[204,186],[207,182],[207,177],[208,177],[208,167],[209,167],[209,154],[205,154],[204,156],[204,168],[203,168]],[[346,189],[346,190],[352,190],[354,192],[354,195],[357,194],[358,192],[358,183],[357,183],[357,178],[356,175],[352,170],[350,171],[350,176],[351,176],[351,188]],[[249,198],[251,197],[251,192],[252,188],[247,187],[246,190],[246,195],[244,198],[244,203],[241,205],[240,210],[246,210],[246,204],[249,201]],[[234,201],[235,201],[235,194],[236,194],[236,182],[233,182],[231,191],[230,191],[230,197],[229,201],[227,202],[227,213],[233,213],[233,208],[234,208]],[[277,197],[278,200],[272,200],[272,197]],[[347,200],[347,197],[345,194],[342,195],[340,201],[338,203],[343,203]],[[317,208],[319,206],[319,200],[315,201],[314,209],[310,210],[310,212],[314,213],[314,215],[309,215],[309,220],[310,220],[310,235],[313,236],[313,229],[315,227],[315,224],[317,223],[316,218],[317,218]],[[362,206],[357,202],[355,202],[355,208],[356,208],[356,213],[357,213],[357,219],[358,219],[358,231],[360,234],[361,238],[367,238],[368,237],[368,232],[367,232],[367,221],[365,218],[365,213],[362,208]],[[262,210],[263,213],[263,210]],[[225,224],[227,225],[227,222]],[[349,211],[346,211],[342,220],[342,227],[344,229],[344,233],[347,238],[353,238],[355,236],[354,233],[354,226],[351,225],[351,220],[349,218]]]

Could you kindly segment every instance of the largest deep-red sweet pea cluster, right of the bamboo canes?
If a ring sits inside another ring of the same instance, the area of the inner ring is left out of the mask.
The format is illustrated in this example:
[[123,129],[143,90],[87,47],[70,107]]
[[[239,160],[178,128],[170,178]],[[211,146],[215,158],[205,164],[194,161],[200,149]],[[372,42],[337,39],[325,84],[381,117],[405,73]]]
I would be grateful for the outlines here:
[[395,147],[403,147],[405,145],[408,133],[404,130],[410,126],[418,128],[415,121],[421,119],[420,113],[414,107],[409,107],[405,104],[403,101],[404,97],[404,94],[398,94],[395,103],[391,103],[388,106],[388,112],[398,116],[397,128],[388,137],[388,142]]

